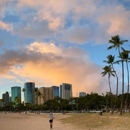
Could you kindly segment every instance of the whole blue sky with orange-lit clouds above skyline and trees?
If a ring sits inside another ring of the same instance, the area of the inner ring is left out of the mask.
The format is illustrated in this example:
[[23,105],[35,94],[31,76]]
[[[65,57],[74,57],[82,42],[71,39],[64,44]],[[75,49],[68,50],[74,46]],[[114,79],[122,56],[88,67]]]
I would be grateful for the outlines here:
[[[70,83],[73,96],[109,92],[101,72],[109,54],[118,59],[107,50],[115,35],[130,50],[130,0],[0,0],[0,98],[25,82]],[[115,78],[111,86],[114,93]]]

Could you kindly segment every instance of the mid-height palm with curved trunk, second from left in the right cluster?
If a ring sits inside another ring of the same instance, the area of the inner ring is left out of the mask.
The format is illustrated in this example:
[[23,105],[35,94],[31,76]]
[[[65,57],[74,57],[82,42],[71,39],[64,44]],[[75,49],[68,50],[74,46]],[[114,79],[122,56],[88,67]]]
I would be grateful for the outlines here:
[[114,65],[113,65],[113,64],[115,64],[117,62],[115,62],[114,60],[115,60],[115,56],[112,56],[112,55],[108,55],[107,56],[107,61],[104,60],[104,62],[106,62],[107,64],[111,65],[112,70],[114,71],[114,74],[116,76],[116,96],[115,96],[115,103],[114,103],[114,106],[113,106],[112,114],[113,114],[114,109],[116,107],[116,101],[117,101],[117,96],[118,96],[118,76],[117,76],[117,73],[116,73],[116,71],[114,69]]

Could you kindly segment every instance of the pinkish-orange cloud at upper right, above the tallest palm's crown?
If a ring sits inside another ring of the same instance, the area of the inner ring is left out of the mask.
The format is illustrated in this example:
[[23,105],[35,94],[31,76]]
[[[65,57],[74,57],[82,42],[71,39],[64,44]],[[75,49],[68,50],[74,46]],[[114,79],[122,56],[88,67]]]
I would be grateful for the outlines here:
[[102,13],[97,20],[102,27],[106,27],[109,35],[129,36],[130,11],[127,11],[124,6],[117,5],[114,10],[111,7],[102,7],[100,12]]

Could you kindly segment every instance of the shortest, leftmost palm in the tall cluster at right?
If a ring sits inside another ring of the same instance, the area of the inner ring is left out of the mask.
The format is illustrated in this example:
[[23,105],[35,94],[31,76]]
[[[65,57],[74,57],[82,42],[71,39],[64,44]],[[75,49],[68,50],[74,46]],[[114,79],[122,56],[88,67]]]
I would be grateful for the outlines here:
[[[108,74],[109,89],[110,89],[110,93],[111,93],[111,109],[112,109],[112,90],[111,90],[110,77],[111,77],[111,75],[112,75],[112,76],[115,76],[115,75],[114,75],[114,71],[112,71],[110,65],[109,65],[109,66],[105,66],[105,67],[103,68],[103,70],[104,70],[104,71],[101,73],[102,76],[105,76],[106,74]],[[112,113],[112,111],[111,111],[111,113]]]

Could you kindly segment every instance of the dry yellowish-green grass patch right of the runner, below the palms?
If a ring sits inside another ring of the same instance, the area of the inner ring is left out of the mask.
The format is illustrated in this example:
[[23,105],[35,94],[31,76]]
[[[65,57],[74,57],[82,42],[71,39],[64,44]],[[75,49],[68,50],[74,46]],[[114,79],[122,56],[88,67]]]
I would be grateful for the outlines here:
[[70,123],[79,130],[130,130],[130,114],[119,113],[84,113],[72,114],[68,118],[61,119],[63,123]]

